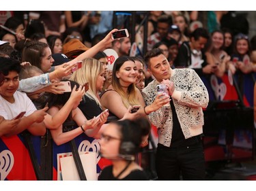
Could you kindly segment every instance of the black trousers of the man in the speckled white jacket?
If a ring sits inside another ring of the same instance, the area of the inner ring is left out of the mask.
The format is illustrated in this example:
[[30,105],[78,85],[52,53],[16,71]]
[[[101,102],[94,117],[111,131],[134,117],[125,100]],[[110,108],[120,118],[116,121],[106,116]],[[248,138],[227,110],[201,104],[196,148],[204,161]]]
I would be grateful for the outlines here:
[[188,147],[165,147],[158,143],[156,150],[158,180],[203,180],[205,160],[201,142]]

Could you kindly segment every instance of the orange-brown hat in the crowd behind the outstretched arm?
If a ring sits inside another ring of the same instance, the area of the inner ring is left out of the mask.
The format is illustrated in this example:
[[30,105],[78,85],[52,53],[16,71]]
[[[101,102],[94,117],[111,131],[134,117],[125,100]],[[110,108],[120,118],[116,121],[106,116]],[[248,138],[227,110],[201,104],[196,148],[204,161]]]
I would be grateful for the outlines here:
[[68,56],[70,59],[79,56],[79,54],[88,49],[89,48],[85,46],[79,39],[71,39],[63,45],[63,53],[66,54],[66,56]]

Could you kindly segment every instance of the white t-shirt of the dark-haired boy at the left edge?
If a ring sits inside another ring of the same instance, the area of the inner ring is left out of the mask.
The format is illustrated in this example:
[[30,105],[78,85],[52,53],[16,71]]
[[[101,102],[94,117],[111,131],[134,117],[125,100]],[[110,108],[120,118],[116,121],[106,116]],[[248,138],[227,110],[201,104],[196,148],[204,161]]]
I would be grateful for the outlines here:
[[14,103],[6,101],[0,95],[0,116],[3,116],[5,120],[12,120],[22,111],[26,111],[25,116],[29,116],[35,110],[37,110],[35,105],[25,92],[16,91],[14,93]]

